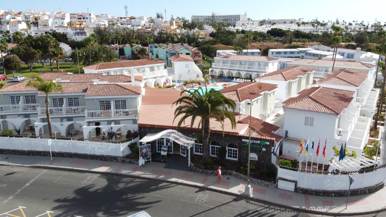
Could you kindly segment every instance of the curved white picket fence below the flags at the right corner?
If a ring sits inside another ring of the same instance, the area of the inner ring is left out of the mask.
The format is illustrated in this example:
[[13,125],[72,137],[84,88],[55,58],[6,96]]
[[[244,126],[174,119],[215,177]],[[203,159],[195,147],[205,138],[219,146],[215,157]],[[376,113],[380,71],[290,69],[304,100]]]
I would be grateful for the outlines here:
[[[386,168],[350,176],[355,180],[351,189],[366,188],[386,182]],[[323,175],[278,168],[278,177],[297,181],[300,188],[314,190],[347,190],[349,187],[349,175]]]

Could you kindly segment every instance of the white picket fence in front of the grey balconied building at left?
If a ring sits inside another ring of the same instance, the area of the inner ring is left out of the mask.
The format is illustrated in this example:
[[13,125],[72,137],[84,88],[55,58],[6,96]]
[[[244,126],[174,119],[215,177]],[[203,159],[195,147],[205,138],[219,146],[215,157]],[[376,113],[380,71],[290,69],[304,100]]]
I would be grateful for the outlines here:
[[[0,149],[49,151],[47,140],[45,138],[0,137]],[[120,157],[131,153],[128,145],[134,141],[139,144],[139,137],[123,143],[52,139],[51,151]]]

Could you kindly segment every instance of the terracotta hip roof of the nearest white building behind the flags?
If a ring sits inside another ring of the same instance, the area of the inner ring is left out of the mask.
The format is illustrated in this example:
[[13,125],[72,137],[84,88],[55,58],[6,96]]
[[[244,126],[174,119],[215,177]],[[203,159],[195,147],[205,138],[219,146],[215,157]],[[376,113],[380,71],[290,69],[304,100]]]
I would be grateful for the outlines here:
[[339,115],[352,101],[355,92],[325,87],[302,90],[297,97],[283,102],[283,108]]

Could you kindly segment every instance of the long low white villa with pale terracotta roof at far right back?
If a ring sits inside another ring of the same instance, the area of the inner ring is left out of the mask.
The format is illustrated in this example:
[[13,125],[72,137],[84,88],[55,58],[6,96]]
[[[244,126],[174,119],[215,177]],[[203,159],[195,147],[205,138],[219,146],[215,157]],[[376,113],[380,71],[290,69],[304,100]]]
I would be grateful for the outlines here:
[[[298,59],[294,61],[289,61],[286,63],[286,65],[287,67],[306,66],[314,68],[314,79],[319,80],[331,73],[333,62],[334,61],[328,59]],[[362,63],[358,61],[335,61],[334,70],[340,70],[345,68],[370,72],[372,75],[374,75],[373,80],[375,79],[376,67],[373,64]]]

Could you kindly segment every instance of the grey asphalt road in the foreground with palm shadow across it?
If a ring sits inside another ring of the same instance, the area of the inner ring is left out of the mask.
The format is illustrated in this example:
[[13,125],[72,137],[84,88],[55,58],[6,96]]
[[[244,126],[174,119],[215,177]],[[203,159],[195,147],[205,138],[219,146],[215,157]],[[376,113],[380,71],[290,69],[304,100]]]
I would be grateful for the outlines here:
[[320,216],[162,181],[0,166],[0,214],[8,212],[0,217],[126,217],[141,210],[152,217]]

